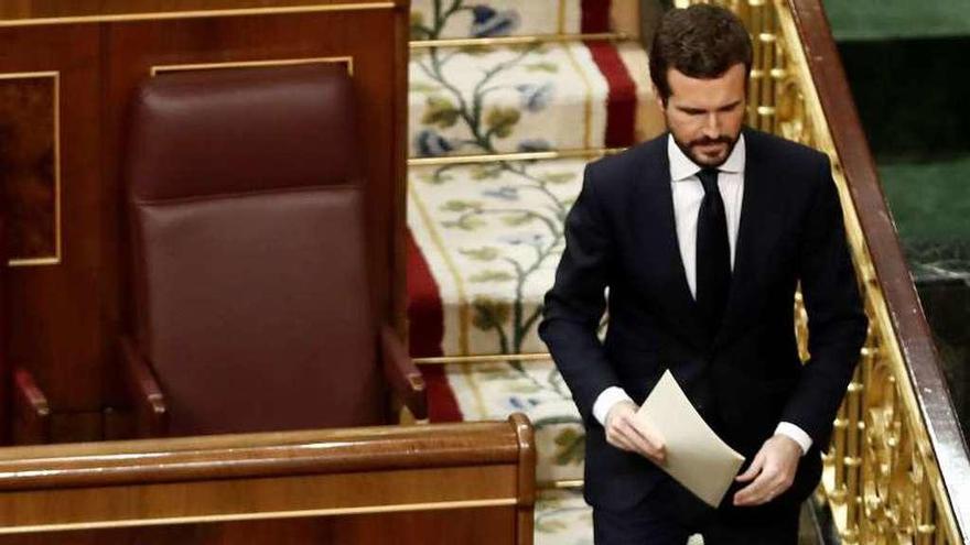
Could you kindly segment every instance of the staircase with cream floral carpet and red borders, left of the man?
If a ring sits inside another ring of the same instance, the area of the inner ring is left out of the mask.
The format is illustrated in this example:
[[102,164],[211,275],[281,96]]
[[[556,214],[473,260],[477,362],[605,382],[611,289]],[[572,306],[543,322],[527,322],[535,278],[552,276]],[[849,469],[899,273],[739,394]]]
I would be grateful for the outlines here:
[[636,0],[416,0],[408,138],[410,346],[432,422],[537,432],[539,544],[592,543],[583,428],[537,335],[585,164],[664,120]]

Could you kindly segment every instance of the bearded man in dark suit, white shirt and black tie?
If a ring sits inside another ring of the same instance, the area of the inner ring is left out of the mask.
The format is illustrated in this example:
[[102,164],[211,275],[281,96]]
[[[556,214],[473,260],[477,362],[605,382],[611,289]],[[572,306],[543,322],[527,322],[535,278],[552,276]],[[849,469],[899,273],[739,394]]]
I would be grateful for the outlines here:
[[[650,64],[669,132],[586,167],[539,327],[585,422],[596,543],[794,544],[866,331],[829,162],[742,127],[752,46],[730,11],[668,12]],[[666,369],[748,460],[718,510],[633,425]]]

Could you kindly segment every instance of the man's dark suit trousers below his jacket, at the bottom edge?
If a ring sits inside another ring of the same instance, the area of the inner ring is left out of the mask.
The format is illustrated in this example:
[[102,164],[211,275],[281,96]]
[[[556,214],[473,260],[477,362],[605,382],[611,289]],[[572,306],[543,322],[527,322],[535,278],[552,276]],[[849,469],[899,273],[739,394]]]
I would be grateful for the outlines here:
[[[756,508],[722,505],[696,516],[682,501],[686,491],[664,478],[638,504],[622,511],[593,509],[596,545],[685,545],[701,534],[704,545],[797,545],[798,503]],[[687,492],[689,493],[689,492]],[[728,502],[730,498],[725,499]],[[699,500],[696,500],[699,502]],[[690,513],[687,516],[686,513]]]

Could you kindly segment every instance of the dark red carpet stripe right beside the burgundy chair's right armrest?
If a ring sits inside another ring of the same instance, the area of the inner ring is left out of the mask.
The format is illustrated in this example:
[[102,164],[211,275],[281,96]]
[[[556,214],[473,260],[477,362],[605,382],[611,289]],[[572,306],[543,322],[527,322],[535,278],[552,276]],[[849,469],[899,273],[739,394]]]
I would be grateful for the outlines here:
[[[408,342],[411,356],[429,358],[442,356],[444,309],[438,284],[431,269],[418,248],[411,230],[408,244]],[[461,422],[462,412],[444,375],[443,366],[422,366],[421,373],[428,386],[428,417],[431,422]]]

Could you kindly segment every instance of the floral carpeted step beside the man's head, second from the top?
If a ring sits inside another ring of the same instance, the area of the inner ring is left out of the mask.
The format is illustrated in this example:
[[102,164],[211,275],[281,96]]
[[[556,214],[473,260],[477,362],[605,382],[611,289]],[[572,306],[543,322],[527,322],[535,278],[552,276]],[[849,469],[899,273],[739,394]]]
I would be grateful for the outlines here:
[[634,42],[411,52],[414,157],[621,148],[662,130]]

